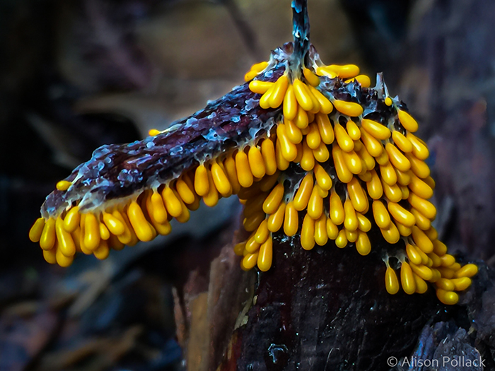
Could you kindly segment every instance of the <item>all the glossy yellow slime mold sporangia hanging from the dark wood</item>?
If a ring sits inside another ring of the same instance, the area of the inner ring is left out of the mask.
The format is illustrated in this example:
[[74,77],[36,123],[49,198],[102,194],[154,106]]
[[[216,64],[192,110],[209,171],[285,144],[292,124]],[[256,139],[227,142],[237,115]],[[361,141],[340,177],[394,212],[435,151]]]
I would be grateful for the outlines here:
[[[397,257],[405,293],[424,293],[429,281],[441,302],[458,302],[455,291],[469,287],[477,266],[461,267],[431,226],[436,208],[427,200],[435,183],[424,162],[429,150],[412,134],[417,122],[388,96],[383,103],[394,110],[392,119],[363,119],[359,103],[337,100],[320,86],[319,76],[326,76],[325,81],[369,87],[370,79],[359,75],[357,66],[319,63],[302,71],[287,68],[274,82],[256,79],[267,68],[268,62],[255,64],[245,80],[261,94],[260,107],[283,106],[272,131],[105,210],[80,213],[69,206],[56,218],[39,218],[30,239],[40,242],[45,259],[68,266],[76,251],[105,259],[110,248],[167,235],[170,220],[186,222],[201,199],[214,206],[220,197],[237,194],[245,204],[244,228],[252,232],[235,245],[243,269],[272,266],[272,234],[282,228],[287,236],[299,232],[304,249],[334,240],[337,247],[351,243],[366,255],[374,222],[390,244],[405,242],[405,253]],[[291,163],[302,170],[288,186],[284,170]],[[57,189],[70,186],[62,181]],[[385,286],[395,294],[400,284],[388,258],[385,264]]]

